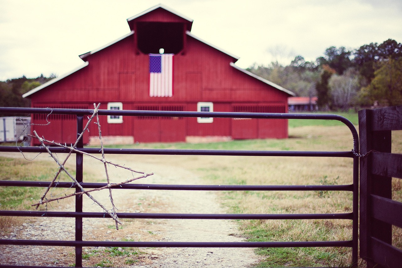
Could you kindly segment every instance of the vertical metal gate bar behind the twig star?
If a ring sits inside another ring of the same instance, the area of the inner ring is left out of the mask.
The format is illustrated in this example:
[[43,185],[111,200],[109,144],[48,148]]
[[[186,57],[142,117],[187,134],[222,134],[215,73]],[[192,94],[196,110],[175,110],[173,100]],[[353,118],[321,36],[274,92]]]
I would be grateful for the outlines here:
[[[84,125],[84,116],[77,115],[77,138],[80,136]],[[78,141],[77,148],[84,147],[83,138]],[[83,175],[83,160],[84,156],[80,153],[76,153],[76,179],[78,183],[82,182]],[[76,186],[76,192],[81,192],[81,189]],[[82,212],[82,194],[76,195],[76,212]],[[76,230],[76,241],[82,241],[82,217],[75,218],[75,230]],[[75,247],[76,255],[76,267],[82,267],[82,246]]]

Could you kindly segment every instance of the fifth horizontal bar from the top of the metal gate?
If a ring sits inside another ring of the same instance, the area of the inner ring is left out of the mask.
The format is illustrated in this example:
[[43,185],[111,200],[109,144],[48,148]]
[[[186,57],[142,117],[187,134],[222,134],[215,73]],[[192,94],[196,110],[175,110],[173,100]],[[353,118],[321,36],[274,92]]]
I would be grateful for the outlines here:
[[62,247],[352,247],[352,241],[291,242],[145,242],[0,239],[0,245],[41,245]]

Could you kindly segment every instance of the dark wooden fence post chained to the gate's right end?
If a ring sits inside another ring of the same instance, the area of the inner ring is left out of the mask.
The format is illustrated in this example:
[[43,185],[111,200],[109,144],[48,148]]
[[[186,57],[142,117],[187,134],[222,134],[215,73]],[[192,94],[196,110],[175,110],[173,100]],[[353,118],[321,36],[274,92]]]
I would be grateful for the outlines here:
[[391,153],[391,131],[374,131],[373,110],[359,111],[360,154],[360,256],[367,267],[383,266],[372,261],[371,237],[392,244],[392,225],[371,218],[371,195],[392,198],[392,179],[371,173],[371,150]]

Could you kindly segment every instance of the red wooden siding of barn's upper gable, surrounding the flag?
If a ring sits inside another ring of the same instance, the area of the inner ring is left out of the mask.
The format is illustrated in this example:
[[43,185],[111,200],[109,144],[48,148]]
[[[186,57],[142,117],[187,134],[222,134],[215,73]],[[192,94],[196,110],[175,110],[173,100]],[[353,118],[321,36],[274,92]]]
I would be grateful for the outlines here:
[[286,102],[287,93],[231,67],[228,64],[232,59],[230,56],[222,57],[222,52],[195,39],[190,39],[189,43],[185,56],[174,57],[173,97],[149,96],[148,55],[135,55],[127,37],[90,55],[87,67],[37,92],[34,99],[58,99],[67,103],[83,99],[101,103],[122,99],[146,103],[189,100]]

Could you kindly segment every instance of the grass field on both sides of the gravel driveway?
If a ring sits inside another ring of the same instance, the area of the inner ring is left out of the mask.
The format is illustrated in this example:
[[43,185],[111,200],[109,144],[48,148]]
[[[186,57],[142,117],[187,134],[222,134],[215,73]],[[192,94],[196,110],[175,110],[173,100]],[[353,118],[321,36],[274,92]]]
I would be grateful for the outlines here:
[[[340,115],[357,125],[357,113]],[[342,125],[338,121],[329,120],[289,120],[289,138],[282,140],[234,140],[203,144],[149,143],[121,147],[349,151],[353,148],[353,138],[350,130]],[[392,144],[393,153],[402,153],[402,132],[393,133]],[[152,156],[149,157],[152,158]],[[203,177],[206,184],[340,185],[352,183],[353,161],[349,158],[192,156],[187,157],[185,161],[183,159],[183,157],[169,156],[163,161],[169,165],[190,169]],[[12,167],[11,173],[10,167]],[[27,167],[30,171],[20,174],[20,170],[25,170],[21,167]],[[35,167],[32,162],[0,159],[1,179],[11,177],[31,179],[32,174],[40,179],[41,172],[48,171],[43,170],[42,166]],[[402,201],[401,186],[400,180],[394,179],[393,198],[395,200]],[[0,196],[3,196],[0,205],[2,209],[25,209],[28,203],[30,204],[27,200],[38,199],[40,194],[40,192],[33,193],[29,190],[15,191],[16,189],[0,188]],[[352,211],[350,192],[228,191],[219,194],[222,206],[226,207],[229,213],[345,213]],[[12,198],[7,198],[8,196],[22,196],[22,198],[11,200]],[[251,220],[237,223],[248,241],[350,240],[352,234],[349,220]],[[393,243],[402,247],[400,229],[394,229]],[[349,248],[260,248],[256,249],[256,253],[263,258],[256,267],[331,267],[349,263],[351,260]]]

